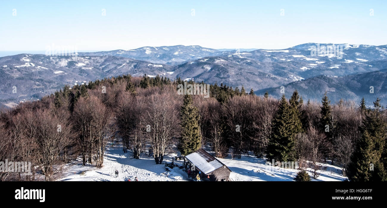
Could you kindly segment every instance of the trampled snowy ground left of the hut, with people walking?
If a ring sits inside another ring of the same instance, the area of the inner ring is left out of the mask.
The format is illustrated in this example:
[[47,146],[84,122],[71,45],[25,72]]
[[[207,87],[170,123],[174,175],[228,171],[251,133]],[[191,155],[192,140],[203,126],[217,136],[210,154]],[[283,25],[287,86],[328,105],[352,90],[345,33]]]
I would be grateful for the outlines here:
[[[164,161],[172,161],[171,156],[164,157]],[[139,181],[190,181],[182,169],[175,167],[168,172],[164,164],[156,165],[154,159],[145,153],[140,159],[134,159],[132,152],[123,153],[119,142],[108,146],[102,168],[82,166],[82,160],[78,159],[67,164],[65,169],[64,176],[58,181],[134,181],[135,177]],[[118,177],[115,177],[115,170],[119,172]]]

